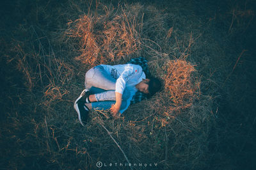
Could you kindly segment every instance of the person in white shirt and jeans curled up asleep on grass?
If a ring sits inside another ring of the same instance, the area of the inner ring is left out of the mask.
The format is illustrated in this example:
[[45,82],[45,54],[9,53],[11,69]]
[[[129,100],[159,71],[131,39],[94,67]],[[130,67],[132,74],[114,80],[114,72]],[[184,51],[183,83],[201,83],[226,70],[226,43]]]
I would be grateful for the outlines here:
[[161,82],[146,79],[140,65],[98,65],[86,72],[85,88],[74,103],[83,126],[91,109],[110,109],[112,116],[122,114],[137,91],[151,97],[161,89]]

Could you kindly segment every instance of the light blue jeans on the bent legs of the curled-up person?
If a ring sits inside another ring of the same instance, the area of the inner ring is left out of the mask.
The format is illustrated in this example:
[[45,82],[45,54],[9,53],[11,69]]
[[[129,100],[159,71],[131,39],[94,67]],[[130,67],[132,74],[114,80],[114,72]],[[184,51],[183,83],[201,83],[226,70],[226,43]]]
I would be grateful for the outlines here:
[[[106,72],[103,66],[98,65],[86,72],[85,88],[95,95],[97,102],[92,102],[93,109],[110,109],[115,104],[115,86],[116,79],[111,77],[111,73]],[[122,95],[122,104],[120,110],[127,106],[126,100],[130,97],[127,89],[124,89]]]

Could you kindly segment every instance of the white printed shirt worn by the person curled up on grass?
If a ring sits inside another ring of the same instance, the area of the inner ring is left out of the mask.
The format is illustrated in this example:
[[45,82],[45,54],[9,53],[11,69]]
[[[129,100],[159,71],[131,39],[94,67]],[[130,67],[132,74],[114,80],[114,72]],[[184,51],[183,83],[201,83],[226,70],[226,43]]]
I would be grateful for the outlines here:
[[129,107],[132,97],[135,95],[136,91],[138,91],[138,89],[135,88],[136,84],[141,82],[143,79],[146,79],[146,75],[142,71],[140,65],[125,64],[101,66],[103,66],[104,70],[116,79],[116,92],[123,94],[124,89],[127,89],[130,92],[130,97],[126,101],[127,105],[125,109],[119,111],[122,114]]

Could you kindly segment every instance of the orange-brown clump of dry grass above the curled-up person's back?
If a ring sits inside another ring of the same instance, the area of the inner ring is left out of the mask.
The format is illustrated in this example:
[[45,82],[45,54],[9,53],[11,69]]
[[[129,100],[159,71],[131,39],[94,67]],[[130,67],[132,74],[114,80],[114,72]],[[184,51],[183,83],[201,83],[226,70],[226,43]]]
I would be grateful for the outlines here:
[[120,61],[140,49],[136,15],[129,15],[127,8],[115,13],[111,7],[102,8],[102,15],[88,13],[68,22],[67,36],[79,43],[76,59],[90,66]]

